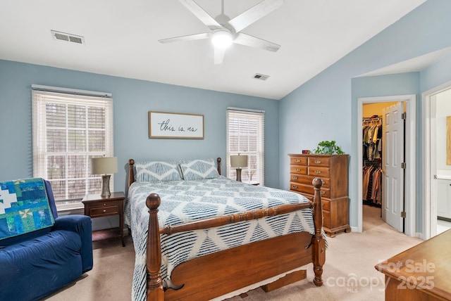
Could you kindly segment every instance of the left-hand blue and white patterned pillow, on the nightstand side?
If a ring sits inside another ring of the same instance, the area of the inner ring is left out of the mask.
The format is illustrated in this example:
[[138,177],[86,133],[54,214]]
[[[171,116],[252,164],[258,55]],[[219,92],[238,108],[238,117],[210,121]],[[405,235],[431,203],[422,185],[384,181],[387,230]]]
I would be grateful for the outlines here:
[[138,182],[179,181],[182,179],[178,165],[174,161],[137,161],[135,162]]

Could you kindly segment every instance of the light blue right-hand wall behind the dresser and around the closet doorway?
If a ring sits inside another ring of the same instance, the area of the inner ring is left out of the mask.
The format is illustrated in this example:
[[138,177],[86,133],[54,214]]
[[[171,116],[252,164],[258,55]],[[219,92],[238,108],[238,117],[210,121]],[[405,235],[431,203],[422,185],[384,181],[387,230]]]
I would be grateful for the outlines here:
[[[357,96],[417,94],[419,97],[425,89],[451,80],[451,58],[443,58],[419,75],[354,81],[352,78],[451,46],[450,15],[451,1],[426,1],[283,98],[279,106],[280,188],[289,186],[288,153],[312,149],[322,140],[336,140],[350,154],[350,224],[357,226],[357,202],[361,201],[357,196],[357,174],[362,170],[357,166],[357,135],[362,129],[362,120],[357,120]],[[400,87],[393,86],[393,79]],[[376,81],[378,86],[368,81]],[[417,134],[421,134],[420,104],[418,100]],[[421,139],[418,138],[417,187],[422,184]],[[417,207],[421,205],[421,197],[417,196]],[[417,220],[417,230],[421,231],[421,220]]]

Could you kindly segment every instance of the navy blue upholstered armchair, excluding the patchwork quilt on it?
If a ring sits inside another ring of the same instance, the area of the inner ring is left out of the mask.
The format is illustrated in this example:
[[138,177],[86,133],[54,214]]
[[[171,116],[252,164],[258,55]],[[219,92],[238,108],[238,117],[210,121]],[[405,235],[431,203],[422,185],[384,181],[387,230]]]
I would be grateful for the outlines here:
[[91,218],[58,217],[51,185],[44,184],[54,224],[0,240],[0,300],[39,300],[92,269]]

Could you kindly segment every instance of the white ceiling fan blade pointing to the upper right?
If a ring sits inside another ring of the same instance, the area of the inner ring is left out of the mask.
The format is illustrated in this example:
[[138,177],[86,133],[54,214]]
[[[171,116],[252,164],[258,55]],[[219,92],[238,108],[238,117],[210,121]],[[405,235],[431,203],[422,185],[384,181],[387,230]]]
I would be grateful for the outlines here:
[[247,26],[251,25],[255,21],[264,17],[271,11],[276,10],[280,6],[283,5],[284,0],[264,0],[259,4],[252,6],[244,13],[237,15],[232,20],[228,21],[228,24],[232,25],[235,32],[240,32],[245,29]]

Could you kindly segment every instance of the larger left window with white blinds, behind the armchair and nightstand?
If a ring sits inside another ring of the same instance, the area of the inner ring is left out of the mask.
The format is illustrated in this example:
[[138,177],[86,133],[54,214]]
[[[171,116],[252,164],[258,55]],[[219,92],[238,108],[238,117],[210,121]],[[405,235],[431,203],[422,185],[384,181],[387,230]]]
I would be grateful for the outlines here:
[[32,85],[32,129],[33,176],[51,182],[58,209],[100,193],[89,161],[113,156],[111,94]]

